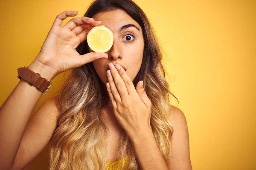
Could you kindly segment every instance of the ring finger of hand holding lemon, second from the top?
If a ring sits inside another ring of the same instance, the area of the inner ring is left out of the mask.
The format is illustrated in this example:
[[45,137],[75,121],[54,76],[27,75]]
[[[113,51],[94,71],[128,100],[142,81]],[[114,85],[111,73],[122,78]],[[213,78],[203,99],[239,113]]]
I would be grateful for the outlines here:
[[93,23],[94,19],[93,18],[89,18],[89,17],[76,17],[76,18],[72,18],[71,20],[69,20],[64,26],[63,28],[69,28],[70,30],[73,30],[74,28],[76,28],[76,26],[79,26],[81,24],[85,24],[85,23]]

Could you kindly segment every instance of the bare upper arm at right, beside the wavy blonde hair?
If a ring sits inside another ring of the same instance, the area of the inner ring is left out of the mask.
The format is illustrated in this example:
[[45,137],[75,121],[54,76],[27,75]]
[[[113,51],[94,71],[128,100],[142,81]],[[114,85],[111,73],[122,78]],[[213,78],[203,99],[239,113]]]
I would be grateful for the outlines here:
[[192,170],[189,154],[189,132],[184,113],[177,107],[170,107],[170,122],[173,127],[172,156],[170,170]]

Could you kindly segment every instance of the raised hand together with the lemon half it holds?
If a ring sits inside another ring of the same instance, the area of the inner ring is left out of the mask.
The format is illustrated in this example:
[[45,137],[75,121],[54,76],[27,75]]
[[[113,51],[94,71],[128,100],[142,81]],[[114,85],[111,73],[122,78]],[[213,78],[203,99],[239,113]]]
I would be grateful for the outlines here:
[[[39,54],[32,62],[36,67],[54,75],[53,77],[96,59],[108,58],[108,54],[104,52],[111,48],[112,32],[101,26],[101,21],[89,17],[72,18],[61,26],[67,17],[76,15],[77,11],[64,11],[57,15]],[[76,48],[87,39],[90,30],[93,31],[89,34],[88,42],[95,52],[80,55]]]

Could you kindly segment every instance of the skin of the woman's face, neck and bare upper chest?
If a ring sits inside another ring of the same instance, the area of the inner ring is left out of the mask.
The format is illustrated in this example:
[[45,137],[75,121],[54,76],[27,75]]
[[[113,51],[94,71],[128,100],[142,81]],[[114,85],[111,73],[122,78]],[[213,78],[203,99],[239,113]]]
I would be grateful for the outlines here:
[[[109,82],[107,70],[110,70],[108,63],[111,62],[114,65],[122,65],[126,69],[126,74],[131,79],[137,76],[143,59],[143,49],[144,49],[144,38],[143,31],[140,25],[129,16],[125,11],[121,9],[114,9],[111,11],[100,12],[93,16],[96,21],[101,21],[102,25],[106,26],[113,32],[114,41],[113,46],[106,53],[108,54],[108,59],[97,59],[93,61],[93,66],[99,78],[102,80],[102,88],[107,92],[106,83]],[[131,26],[123,29],[119,32],[122,26],[127,24],[134,24],[140,31]],[[132,33],[135,35],[128,35]],[[125,41],[126,40],[126,41]],[[88,47],[89,51],[92,50]],[[135,89],[135,87],[134,87]],[[108,94],[108,92],[106,93]],[[109,95],[108,95],[109,98]],[[118,150],[116,148],[119,138],[124,132],[124,129],[119,124],[113,113],[113,105],[110,100],[105,107],[102,107],[100,112],[100,117],[102,117],[103,123],[108,129],[107,141],[108,141],[108,156],[107,160],[117,160],[116,153]],[[125,153],[127,155],[127,152]]]

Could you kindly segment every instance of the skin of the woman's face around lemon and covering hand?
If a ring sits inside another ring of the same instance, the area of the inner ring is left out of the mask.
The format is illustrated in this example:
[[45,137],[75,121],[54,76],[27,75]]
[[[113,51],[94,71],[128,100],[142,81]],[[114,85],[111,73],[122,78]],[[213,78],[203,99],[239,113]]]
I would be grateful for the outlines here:
[[[129,14],[121,9],[100,12],[93,16],[93,18],[96,21],[101,21],[102,25],[109,28],[114,35],[113,46],[106,52],[108,59],[97,59],[93,61],[93,66],[100,79],[106,85],[108,82],[108,76],[106,74],[107,70],[109,70],[108,63],[112,62],[114,65],[119,64],[124,66],[126,73],[131,78],[131,81],[133,81],[140,70],[143,59],[144,39],[142,28]],[[119,32],[119,28],[126,24],[134,24],[140,31],[131,26]],[[136,37],[127,35],[128,33],[132,33]],[[90,48],[89,51],[92,52]],[[104,88],[107,91],[106,87]],[[111,101],[108,101],[107,108],[113,108]]]

